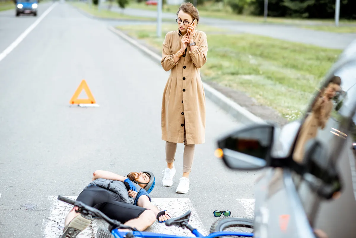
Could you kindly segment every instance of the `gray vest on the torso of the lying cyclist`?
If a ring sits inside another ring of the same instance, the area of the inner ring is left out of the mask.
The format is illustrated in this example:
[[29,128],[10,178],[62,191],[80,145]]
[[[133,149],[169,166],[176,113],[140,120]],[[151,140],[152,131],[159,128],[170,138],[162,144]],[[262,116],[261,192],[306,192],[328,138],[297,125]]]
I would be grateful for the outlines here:
[[[84,189],[93,184],[116,193],[124,202],[133,204],[135,201],[132,197],[129,197],[129,193],[127,192],[124,182],[108,179],[96,179],[91,181],[87,186],[85,186]],[[136,183],[134,183],[134,185],[136,186],[137,192],[140,191],[141,187]]]

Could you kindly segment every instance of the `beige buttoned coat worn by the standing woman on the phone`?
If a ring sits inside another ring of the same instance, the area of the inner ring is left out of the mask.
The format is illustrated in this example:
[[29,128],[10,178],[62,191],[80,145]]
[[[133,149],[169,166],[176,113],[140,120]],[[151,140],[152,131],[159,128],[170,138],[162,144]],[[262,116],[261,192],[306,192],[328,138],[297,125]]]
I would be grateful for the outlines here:
[[162,140],[183,143],[185,128],[187,144],[196,145],[205,142],[205,92],[199,68],[206,62],[208,42],[204,32],[195,30],[194,51],[188,44],[187,53],[174,63],[182,38],[179,30],[170,31],[162,46],[162,67],[171,70],[163,91]]

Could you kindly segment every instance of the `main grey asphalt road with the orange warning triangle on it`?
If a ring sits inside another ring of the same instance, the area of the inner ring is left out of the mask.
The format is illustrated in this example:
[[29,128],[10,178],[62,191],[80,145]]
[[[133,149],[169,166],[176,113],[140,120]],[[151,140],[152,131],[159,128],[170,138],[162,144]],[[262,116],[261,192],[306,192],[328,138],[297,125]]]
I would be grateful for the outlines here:
[[[40,4],[38,15],[51,5]],[[34,21],[2,12],[0,52]],[[153,171],[151,196],[189,198],[206,229],[215,209],[246,216],[236,199],[253,198],[258,173],[229,171],[214,157],[216,138],[241,125],[209,100],[206,143],[196,146],[189,193],[175,193],[181,144],[173,186],[161,186],[161,100],[168,74],[103,22],[56,3],[0,61],[0,237],[43,237],[49,197],[78,196],[97,169]],[[100,107],[69,105],[82,79]]]

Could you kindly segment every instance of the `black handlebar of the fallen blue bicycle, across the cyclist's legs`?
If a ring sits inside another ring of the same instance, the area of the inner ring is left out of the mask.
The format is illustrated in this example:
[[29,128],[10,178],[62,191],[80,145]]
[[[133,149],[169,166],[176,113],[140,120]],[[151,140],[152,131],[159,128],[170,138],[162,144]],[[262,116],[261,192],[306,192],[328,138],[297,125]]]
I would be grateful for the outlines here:
[[83,202],[80,201],[75,201],[72,200],[70,198],[67,197],[63,197],[61,195],[58,195],[58,200],[69,203],[73,206],[77,206],[79,207],[78,211],[79,213],[82,214],[90,214],[90,215],[94,215],[100,218],[103,218],[104,221],[106,221],[107,223],[109,223],[111,226],[115,227],[115,228],[119,228],[119,229],[130,229],[132,231],[138,231],[136,228],[132,228],[129,226],[125,226],[123,225],[121,222],[117,221],[117,220],[113,220],[111,218],[109,218],[108,216],[106,216],[103,212],[99,211],[98,209],[94,208],[94,207],[90,207],[88,205],[85,205]]

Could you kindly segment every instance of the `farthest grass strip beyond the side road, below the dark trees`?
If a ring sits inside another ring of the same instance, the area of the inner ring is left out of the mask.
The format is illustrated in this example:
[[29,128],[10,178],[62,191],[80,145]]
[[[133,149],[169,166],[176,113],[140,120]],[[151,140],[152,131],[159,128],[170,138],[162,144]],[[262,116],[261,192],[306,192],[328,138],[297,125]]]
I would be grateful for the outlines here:
[[[146,5],[144,2],[137,3],[131,2],[127,7],[157,11],[157,6]],[[163,5],[163,12],[176,13],[179,5]],[[334,25],[333,19],[296,19],[286,17],[268,17],[267,21],[262,16],[251,15],[237,15],[232,12],[231,8],[227,5],[220,3],[207,2],[204,6],[198,6],[199,15],[201,17],[211,17],[217,19],[236,20],[244,22],[254,23],[268,23],[268,24],[286,24],[296,25],[298,27],[307,27],[309,29],[329,31],[329,32],[341,32],[351,33],[356,32],[356,21],[340,20],[340,26]],[[318,26],[322,25],[322,26]]]

